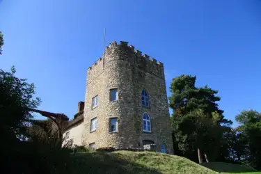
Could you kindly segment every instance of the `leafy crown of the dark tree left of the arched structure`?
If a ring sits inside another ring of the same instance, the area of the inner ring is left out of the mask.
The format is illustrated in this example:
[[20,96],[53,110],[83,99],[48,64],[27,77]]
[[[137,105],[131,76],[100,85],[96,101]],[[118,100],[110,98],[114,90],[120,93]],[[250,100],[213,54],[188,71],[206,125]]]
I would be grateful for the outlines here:
[[6,139],[9,134],[21,136],[26,128],[25,121],[33,118],[28,108],[33,109],[40,104],[40,98],[33,99],[34,94],[34,84],[15,77],[14,67],[10,72],[0,70],[0,125]]

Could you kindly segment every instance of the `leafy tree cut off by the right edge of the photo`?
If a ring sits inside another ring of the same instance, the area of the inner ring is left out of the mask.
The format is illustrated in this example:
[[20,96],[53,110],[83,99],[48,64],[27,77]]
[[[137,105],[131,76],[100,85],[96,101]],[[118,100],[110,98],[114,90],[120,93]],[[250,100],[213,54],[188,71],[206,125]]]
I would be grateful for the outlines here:
[[242,111],[236,116],[239,122],[237,127],[237,141],[242,143],[236,146],[237,156],[252,164],[253,167],[261,168],[261,113],[249,110]]

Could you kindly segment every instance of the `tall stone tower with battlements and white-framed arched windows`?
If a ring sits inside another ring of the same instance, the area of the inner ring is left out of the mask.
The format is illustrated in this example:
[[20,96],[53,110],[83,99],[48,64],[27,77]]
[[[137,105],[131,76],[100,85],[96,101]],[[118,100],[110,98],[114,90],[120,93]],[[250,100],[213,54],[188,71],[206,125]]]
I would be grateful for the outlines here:
[[82,143],[173,154],[164,66],[127,42],[111,42],[88,68]]

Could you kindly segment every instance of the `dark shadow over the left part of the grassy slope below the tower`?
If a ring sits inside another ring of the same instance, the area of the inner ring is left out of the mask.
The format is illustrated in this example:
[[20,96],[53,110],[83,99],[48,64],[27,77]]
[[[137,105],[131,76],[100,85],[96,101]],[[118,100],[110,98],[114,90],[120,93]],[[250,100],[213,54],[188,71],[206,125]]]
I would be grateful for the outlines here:
[[160,173],[111,152],[76,153],[71,159],[70,173]]

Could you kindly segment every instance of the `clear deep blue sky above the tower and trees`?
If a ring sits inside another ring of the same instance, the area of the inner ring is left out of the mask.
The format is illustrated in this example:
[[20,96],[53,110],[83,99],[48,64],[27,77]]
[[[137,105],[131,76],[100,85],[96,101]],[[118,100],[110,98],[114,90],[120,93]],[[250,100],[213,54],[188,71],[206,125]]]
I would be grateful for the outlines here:
[[106,45],[125,40],[164,63],[168,91],[192,74],[219,90],[226,118],[261,111],[260,0],[1,0],[0,19],[0,68],[35,84],[39,109],[72,118],[106,27]]

